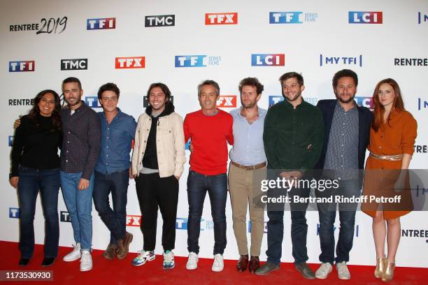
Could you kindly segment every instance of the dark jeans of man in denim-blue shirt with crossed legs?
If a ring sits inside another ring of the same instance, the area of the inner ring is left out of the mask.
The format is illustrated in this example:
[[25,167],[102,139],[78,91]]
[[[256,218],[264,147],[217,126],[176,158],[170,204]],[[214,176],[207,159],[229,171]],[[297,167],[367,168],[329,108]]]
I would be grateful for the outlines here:
[[[110,231],[110,244],[117,244],[117,240],[123,239],[126,233],[129,171],[110,174],[95,171],[94,176],[95,209]],[[108,201],[110,192],[113,210]]]

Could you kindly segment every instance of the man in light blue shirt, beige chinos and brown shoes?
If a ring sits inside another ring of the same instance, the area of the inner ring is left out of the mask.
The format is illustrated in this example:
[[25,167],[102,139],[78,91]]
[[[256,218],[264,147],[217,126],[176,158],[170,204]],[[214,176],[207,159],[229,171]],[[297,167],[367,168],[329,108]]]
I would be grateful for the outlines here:
[[[229,191],[240,254],[236,269],[244,272],[248,267],[254,273],[259,268],[264,233],[264,208],[256,203],[261,196],[260,182],[266,179],[263,126],[267,111],[257,106],[263,92],[263,85],[257,78],[244,78],[238,88],[242,106],[230,112],[234,117],[234,147],[229,154]],[[248,206],[251,221],[250,260],[246,227]]]

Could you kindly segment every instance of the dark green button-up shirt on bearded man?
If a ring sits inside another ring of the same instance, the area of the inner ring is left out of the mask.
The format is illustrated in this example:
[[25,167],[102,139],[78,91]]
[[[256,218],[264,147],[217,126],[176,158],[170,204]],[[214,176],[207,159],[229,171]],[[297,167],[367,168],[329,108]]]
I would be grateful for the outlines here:
[[264,120],[263,142],[268,168],[313,169],[324,143],[321,110],[304,100],[296,109],[287,100],[273,105]]

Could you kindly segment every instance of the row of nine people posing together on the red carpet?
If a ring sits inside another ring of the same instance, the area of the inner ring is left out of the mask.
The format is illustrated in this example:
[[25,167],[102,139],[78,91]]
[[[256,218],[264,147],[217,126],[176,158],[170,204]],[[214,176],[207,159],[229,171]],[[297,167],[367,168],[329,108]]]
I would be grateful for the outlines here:
[[[257,203],[260,182],[275,173],[286,180],[311,176],[311,170],[334,170],[341,181],[338,193],[359,196],[363,185],[365,152],[369,169],[407,169],[413,154],[416,121],[404,109],[397,82],[382,80],[373,93],[374,110],[358,106],[357,74],[338,71],[333,78],[336,99],[317,106],[304,101],[304,78],[299,73],[280,77],[285,100],[269,110],[257,103],[263,85],[257,78],[244,78],[238,85],[241,107],[230,113],[216,108],[220,87],[213,80],[198,86],[201,110],[187,114],[184,122],[171,102],[171,92],[162,83],[148,89],[149,107],[135,119],[117,108],[120,90],[113,83],[100,87],[98,114],[80,100],[83,89],[77,78],[66,78],[62,92],[68,103],[62,108],[55,91],[39,93],[34,107],[20,119],[12,149],[10,184],[17,187],[20,200],[20,264],[27,265],[34,251],[34,209],[40,189],[45,214],[46,240],[43,266],[57,257],[59,223],[57,196],[62,188],[69,210],[76,244],[64,261],[80,259],[80,270],[92,269],[92,198],[110,231],[104,258],[124,258],[133,236],[127,233],[126,205],[129,179],[135,179],[141,208],[143,249],[132,261],[143,265],[155,259],[157,212],[163,219],[164,269],[175,266],[178,180],[183,174],[185,142],[190,144],[187,176],[189,218],[187,221],[187,270],[198,265],[201,215],[206,193],[211,202],[214,224],[212,270],[224,268],[226,202],[229,189],[233,228],[240,257],[236,269],[267,275],[280,267],[283,242],[283,210],[267,207],[268,256],[260,266],[259,254],[264,233],[264,206]],[[134,140],[131,161],[129,153]],[[228,147],[230,165],[227,175]],[[61,156],[57,155],[58,148]],[[228,177],[229,176],[229,177]],[[406,183],[405,171],[397,182]],[[228,187],[229,186],[229,187]],[[364,192],[376,193],[378,186],[364,180]],[[293,188],[290,197],[308,197],[311,189]],[[108,195],[112,194],[113,209]],[[320,196],[327,193],[318,193]],[[388,194],[388,193],[387,193]],[[389,193],[392,195],[392,193]],[[382,207],[383,206],[383,207]],[[377,265],[375,277],[384,281],[394,275],[399,245],[399,217],[408,211],[388,211],[386,205],[364,212],[373,217]],[[340,233],[334,254],[336,204],[318,204],[320,216],[321,265],[314,273],[306,252],[306,208],[308,203],[290,203],[292,256],[296,269],[307,279],[327,278],[334,263],[338,277],[350,279],[346,263],[352,248],[357,204],[339,204]],[[246,217],[249,208],[251,245],[248,251]],[[387,227],[386,227],[387,225]],[[387,256],[385,238],[387,237]]]

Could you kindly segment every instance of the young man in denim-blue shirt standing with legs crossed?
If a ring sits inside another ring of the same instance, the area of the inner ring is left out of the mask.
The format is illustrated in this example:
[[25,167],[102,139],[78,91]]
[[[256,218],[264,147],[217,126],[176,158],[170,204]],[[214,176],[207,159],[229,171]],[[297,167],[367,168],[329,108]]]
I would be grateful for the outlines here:
[[[127,256],[132,234],[126,231],[127,190],[129,184],[129,152],[134,140],[136,122],[134,117],[119,108],[120,90],[114,83],[99,88],[98,99],[104,112],[101,120],[101,153],[95,166],[94,205],[110,231],[110,243],[104,258],[122,259]],[[108,195],[111,193],[113,210]]]

